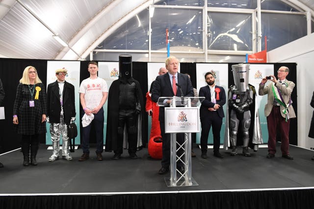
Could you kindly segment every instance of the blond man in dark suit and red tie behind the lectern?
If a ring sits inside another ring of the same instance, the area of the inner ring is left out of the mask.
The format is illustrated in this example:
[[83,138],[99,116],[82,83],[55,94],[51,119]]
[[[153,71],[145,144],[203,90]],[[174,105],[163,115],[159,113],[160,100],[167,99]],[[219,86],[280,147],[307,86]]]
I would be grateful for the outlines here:
[[[166,59],[165,64],[168,73],[157,76],[152,89],[152,100],[158,102],[159,97],[194,96],[193,87],[189,77],[178,72],[179,60],[174,56],[169,56]],[[171,100],[165,100],[164,103],[169,105]],[[164,107],[159,108],[159,122],[162,137],[162,160],[161,168],[158,173],[165,174],[169,171],[170,165],[170,134],[165,134]],[[177,141],[183,143],[183,133],[177,134]],[[183,153],[182,149],[178,151],[178,155],[180,155],[180,153]],[[177,166],[179,170],[183,172],[184,167],[180,161]]]

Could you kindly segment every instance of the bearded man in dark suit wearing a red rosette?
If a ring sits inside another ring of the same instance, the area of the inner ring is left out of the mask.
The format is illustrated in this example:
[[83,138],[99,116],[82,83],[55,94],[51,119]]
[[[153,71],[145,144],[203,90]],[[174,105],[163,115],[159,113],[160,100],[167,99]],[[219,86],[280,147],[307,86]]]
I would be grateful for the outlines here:
[[212,72],[205,74],[205,80],[208,85],[200,89],[198,94],[200,97],[205,97],[200,108],[201,117],[201,157],[207,158],[207,141],[210,127],[212,126],[213,135],[213,151],[214,156],[223,158],[219,152],[220,147],[220,129],[222,118],[225,117],[222,106],[226,103],[226,93],[224,88],[215,84],[215,78]]

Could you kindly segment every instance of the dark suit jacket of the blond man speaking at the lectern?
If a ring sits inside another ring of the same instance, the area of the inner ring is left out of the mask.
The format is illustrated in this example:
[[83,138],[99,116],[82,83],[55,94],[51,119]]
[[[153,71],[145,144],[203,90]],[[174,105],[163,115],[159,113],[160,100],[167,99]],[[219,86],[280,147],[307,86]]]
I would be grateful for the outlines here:
[[[193,87],[187,75],[178,72],[178,84],[181,86],[183,96],[193,97]],[[177,93],[174,95],[172,90],[169,73],[157,76],[152,89],[152,101],[158,102],[159,97],[182,96],[180,88],[177,88]],[[164,121],[164,108],[159,108],[159,121]]]

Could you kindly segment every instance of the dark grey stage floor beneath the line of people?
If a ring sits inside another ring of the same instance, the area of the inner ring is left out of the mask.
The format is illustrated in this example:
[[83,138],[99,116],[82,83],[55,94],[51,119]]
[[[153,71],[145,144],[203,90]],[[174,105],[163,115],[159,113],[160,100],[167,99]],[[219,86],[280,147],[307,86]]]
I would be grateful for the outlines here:
[[0,155],[0,195],[7,194],[55,194],[55,193],[128,193],[217,190],[261,190],[314,187],[314,155],[312,150],[290,146],[293,161],[281,157],[266,159],[267,148],[260,148],[252,157],[241,154],[232,157],[230,151],[221,153],[224,159],[200,157],[200,149],[194,148],[197,157],[192,158],[192,177],[199,186],[167,187],[164,177],[157,171],[160,161],[151,159],[147,149],[137,152],[138,159],[131,160],[125,151],[120,160],[111,160],[113,153],[104,152],[104,160],[97,161],[95,149],[90,159],[78,162],[81,149],[71,153],[73,161],[48,162],[52,154],[44,145],[38,153],[37,166],[24,167],[20,150]]

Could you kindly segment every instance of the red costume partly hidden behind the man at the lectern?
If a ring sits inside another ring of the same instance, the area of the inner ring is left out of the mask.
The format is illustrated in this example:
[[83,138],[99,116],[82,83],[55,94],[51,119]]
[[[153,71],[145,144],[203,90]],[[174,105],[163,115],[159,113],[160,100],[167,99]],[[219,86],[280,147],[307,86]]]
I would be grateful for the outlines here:
[[162,138],[160,136],[159,107],[152,101],[150,92],[146,93],[146,112],[152,110],[152,128],[148,142],[148,153],[154,159],[162,158]]

